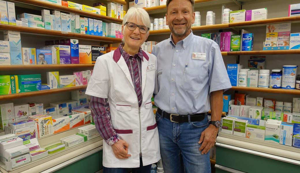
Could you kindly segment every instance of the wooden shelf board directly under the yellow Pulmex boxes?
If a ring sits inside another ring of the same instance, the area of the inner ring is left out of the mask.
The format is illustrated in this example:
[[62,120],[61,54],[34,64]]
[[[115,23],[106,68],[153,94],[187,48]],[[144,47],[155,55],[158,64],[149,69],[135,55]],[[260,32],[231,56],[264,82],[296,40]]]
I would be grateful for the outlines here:
[[109,16],[103,16],[100,14],[95,14],[95,13],[90,13],[90,12],[86,12],[86,11],[82,11],[82,10],[69,8],[69,7],[64,7],[61,5],[50,4],[50,3],[38,1],[38,0],[12,0],[12,1],[21,2],[24,4],[35,5],[35,6],[39,6],[39,7],[43,7],[43,8],[50,8],[53,10],[59,10],[59,11],[64,11],[64,12],[68,12],[68,13],[75,13],[75,14],[79,14],[82,16],[92,17],[92,18],[101,19],[101,20],[110,21],[110,22],[117,22],[117,23],[123,22],[123,20],[121,20],[121,19],[116,19],[116,18],[109,17]]

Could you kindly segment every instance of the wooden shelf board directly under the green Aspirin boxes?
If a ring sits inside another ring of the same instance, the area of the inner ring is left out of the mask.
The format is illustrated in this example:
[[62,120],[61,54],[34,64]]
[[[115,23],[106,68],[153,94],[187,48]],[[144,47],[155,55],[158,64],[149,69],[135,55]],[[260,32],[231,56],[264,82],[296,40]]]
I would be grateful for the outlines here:
[[0,95],[0,101],[1,100],[19,99],[19,98],[24,98],[24,97],[49,95],[49,94],[68,92],[68,91],[75,91],[75,90],[85,89],[86,87],[87,87],[87,85],[82,85],[82,86],[76,86],[76,87],[49,89],[49,90],[43,90],[43,91],[32,91],[32,92],[26,92],[26,93],[6,94],[6,95]]

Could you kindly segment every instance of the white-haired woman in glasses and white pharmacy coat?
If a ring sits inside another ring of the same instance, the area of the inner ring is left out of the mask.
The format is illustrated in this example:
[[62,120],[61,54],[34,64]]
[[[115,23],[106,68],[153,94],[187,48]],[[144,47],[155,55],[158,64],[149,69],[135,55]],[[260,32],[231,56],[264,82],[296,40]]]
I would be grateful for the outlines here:
[[149,36],[150,19],[142,8],[124,16],[123,43],[97,58],[85,94],[104,139],[104,173],[150,172],[160,160],[158,130],[152,110],[157,58],[140,46]]

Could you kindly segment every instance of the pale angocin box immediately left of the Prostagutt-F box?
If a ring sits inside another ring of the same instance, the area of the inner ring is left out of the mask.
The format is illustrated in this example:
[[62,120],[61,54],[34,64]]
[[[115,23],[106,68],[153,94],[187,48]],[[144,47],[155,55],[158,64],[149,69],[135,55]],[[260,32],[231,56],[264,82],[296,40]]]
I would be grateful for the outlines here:
[[265,126],[247,124],[246,138],[265,141]]

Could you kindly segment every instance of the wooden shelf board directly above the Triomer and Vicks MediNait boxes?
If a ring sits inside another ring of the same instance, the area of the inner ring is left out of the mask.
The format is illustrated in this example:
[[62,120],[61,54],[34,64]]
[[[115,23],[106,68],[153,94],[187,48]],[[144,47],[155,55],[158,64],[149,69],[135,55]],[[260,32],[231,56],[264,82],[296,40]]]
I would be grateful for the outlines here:
[[73,32],[54,31],[54,30],[4,25],[4,24],[0,24],[0,30],[20,31],[25,33],[33,33],[35,35],[41,34],[41,35],[54,35],[54,36],[62,36],[62,37],[77,38],[77,39],[81,38],[86,40],[96,40],[96,41],[103,41],[103,42],[110,42],[110,43],[122,42],[122,39],[120,38],[102,37],[96,35],[78,34]]

